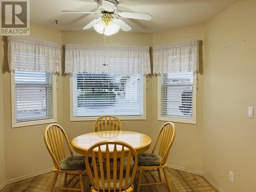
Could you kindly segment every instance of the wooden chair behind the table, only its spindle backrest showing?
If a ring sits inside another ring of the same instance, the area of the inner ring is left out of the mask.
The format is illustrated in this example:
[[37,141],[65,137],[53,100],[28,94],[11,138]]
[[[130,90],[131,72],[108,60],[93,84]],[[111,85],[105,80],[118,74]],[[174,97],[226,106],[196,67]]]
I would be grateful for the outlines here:
[[103,115],[96,119],[93,131],[122,131],[122,123],[114,115]]

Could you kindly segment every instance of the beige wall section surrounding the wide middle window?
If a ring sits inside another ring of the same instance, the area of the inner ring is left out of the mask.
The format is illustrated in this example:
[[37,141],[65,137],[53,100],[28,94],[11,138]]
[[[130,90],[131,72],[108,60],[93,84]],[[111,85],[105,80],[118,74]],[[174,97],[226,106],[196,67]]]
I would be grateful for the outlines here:
[[[104,45],[104,37],[95,32],[62,31],[62,45]],[[152,46],[152,34],[150,33],[123,33],[106,37],[108,46]],[[70,138],[80,134],[92,132],[94,121],[70,121],[69,108],[69,75],[63,77],[63,123]],[[152,79],[147,77],[147,120],[122,121],[123,130],[137,131],[152,135]]]

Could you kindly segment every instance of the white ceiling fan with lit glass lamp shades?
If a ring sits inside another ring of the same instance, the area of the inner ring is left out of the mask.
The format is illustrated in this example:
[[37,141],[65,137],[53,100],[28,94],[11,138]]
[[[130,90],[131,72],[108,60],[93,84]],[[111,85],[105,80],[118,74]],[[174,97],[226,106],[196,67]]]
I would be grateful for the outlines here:
[[117,10],[117,0],[98,0],[98,9],[100,12],[93,11],[61,11],[69,13],[85,13],[97,14],[99,17],[95,18],[84,26],[82,29],[94,28],[98,33],[104,35],[113,35],[120,29],[123,31],[131,31],[132,27],[124,23],[120,18],[133,18],[141,20],[151,20],[152,16],[148,13],[135,13],[135,12],[119,12]]

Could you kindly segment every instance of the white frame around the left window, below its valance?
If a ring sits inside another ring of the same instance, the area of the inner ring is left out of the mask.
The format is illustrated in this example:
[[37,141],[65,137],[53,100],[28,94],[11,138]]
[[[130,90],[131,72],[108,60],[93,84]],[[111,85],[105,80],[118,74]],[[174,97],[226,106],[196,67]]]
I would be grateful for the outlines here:
[[40,119],[40,120],[31,120],[24,122],[16,122],[16,99],[15,99],[15,72],[11,71],[11,105],[12,105],[12,128],[30,126],[30,125],[39,125],[47,123],[56,123],[57,122],[57,80],[56,75],[52,73],[52,118],[51,119]]

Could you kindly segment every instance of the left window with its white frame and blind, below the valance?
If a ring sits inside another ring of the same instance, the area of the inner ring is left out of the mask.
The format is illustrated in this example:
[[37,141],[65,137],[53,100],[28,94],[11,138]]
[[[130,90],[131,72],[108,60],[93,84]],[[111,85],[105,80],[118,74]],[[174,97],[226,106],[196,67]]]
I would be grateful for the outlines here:
[[13,127],[56,122],[55,78],[49,72],[11,73]]

